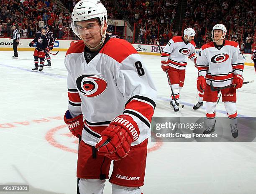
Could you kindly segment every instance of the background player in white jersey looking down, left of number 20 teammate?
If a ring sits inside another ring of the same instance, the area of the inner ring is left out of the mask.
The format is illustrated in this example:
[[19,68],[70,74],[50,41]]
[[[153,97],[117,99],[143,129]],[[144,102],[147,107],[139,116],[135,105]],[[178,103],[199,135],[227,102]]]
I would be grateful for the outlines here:
[[[174,97],[179,103],[179,92],[184,85],[185,69],[187,58],[192,60],[196,65],[195,55],[195,30],[191,27],[184,30],[184,36],[173,37],[164,47],[161,53],[161,67],[164,71],[167,70],[172,84]],[[174,97],[171,95],[170,104],[174,111],[179,111],[179,106],[174,102]]]

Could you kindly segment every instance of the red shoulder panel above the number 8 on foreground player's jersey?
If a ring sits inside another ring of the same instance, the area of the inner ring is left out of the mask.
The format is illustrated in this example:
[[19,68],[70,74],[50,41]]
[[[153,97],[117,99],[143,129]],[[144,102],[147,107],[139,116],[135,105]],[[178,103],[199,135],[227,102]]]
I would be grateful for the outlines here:
[[138,52],[134,49],[130,42],[119,38],[110,38],[104,47],[102,47],[100,53],[108,55],[117,62],[121,63],[129,55],[137,54]]

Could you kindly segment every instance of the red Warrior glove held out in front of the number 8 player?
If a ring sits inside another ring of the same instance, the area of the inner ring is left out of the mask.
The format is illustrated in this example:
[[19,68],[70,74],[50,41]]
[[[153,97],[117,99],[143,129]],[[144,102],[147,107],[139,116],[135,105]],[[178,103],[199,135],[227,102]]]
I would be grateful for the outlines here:
[[138,125],[132,117],[122,114],[109,124],[101,133],[96,147],[99,155],[120,160],[130,152],[131,143],[139,137]]

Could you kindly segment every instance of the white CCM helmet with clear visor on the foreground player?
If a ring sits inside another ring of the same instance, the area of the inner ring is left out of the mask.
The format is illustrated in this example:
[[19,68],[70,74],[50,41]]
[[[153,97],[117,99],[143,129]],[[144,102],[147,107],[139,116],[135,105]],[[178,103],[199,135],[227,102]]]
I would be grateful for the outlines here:
[[71,27],[73,32],[81,39],[79,32],[77,30],[77,22],[78,21],[83,21],[83,20],[91,20],[93,18],[96,18],[101,25],[101,36],[102,40],[100,44],[104,41],[104,38],[106,36],[106,31],[103,34],[103,26],[104,26],[104,21],[107,21],[107,10],[102,5],[100,0],[81,0],[79,1],[75,6],[74,10],[71,14],[72,17],[72,22],[71,22]]

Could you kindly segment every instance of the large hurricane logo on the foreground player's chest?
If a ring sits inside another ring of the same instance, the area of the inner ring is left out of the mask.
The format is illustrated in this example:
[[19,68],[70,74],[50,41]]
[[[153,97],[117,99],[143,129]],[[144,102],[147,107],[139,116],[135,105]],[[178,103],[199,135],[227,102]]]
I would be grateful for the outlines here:
[[86,97],[96,97],[107,89],[108,82],[98,75],[79,75],[77,88]]

